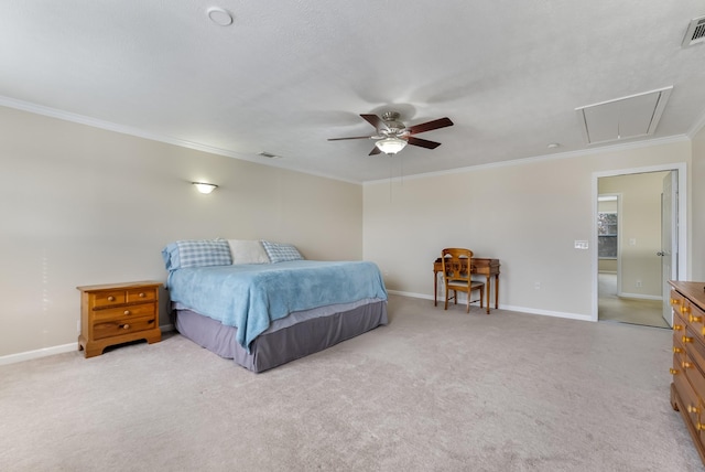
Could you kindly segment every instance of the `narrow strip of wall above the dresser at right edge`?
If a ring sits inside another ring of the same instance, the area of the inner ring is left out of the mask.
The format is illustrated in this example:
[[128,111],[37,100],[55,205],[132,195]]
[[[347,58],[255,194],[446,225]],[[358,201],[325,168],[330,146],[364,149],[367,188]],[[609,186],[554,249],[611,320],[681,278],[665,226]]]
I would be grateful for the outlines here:
[[705,281],[705,127],[693,139],[693,171],[690,184],[693,189],[692,273],[693,280]]

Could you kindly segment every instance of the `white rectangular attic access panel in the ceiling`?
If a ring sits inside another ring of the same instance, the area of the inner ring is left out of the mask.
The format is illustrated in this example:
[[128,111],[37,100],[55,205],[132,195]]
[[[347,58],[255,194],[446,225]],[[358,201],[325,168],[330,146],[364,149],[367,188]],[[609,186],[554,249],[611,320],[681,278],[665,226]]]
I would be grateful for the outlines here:
[[673,86],[576,108],[588,144],[653,135]]

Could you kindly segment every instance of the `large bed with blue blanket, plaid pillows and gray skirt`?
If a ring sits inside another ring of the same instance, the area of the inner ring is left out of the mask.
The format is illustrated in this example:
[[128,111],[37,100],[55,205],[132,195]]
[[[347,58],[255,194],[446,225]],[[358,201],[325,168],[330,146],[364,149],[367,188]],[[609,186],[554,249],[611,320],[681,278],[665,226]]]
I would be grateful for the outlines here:
[[178,333],[256,373],[388,323],[373,262],[237,239],[175,242],[162,255]]

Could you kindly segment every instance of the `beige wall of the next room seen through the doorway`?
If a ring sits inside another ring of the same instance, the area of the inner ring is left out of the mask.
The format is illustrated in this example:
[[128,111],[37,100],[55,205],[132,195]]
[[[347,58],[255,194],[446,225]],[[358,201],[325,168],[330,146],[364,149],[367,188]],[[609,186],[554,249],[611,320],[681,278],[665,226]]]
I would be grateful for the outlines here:
[[[621,199],[619,228],[621,292],[623,297],[661,298],[661,193],[668,172],[601,178],[600,194]],[[606,202],[609,203],[609,202]]]

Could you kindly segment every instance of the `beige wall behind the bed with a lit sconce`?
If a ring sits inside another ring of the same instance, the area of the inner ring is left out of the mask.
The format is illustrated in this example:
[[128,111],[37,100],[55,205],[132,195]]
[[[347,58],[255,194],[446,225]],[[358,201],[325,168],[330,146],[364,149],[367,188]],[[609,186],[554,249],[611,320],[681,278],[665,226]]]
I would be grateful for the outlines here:
[[[164,281],[172,240],[362,257],[361,185],[1,107],[0,129],[0,357],[75,343],[76,286]],[[196,180],[220,187],[202,195]]]

